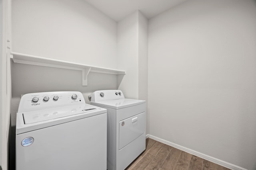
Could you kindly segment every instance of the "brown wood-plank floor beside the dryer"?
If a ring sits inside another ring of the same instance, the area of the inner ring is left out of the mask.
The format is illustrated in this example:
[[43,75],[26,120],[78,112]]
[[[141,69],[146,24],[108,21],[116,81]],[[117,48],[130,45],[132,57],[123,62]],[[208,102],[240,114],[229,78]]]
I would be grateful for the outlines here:
[[125,170],[229,170],[153,139],[146,139],[146,150]]

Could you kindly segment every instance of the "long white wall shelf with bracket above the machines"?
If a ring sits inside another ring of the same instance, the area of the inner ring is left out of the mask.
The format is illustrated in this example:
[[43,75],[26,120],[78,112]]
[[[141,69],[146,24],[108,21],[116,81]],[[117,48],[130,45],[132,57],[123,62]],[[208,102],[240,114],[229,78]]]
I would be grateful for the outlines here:
[[72,63],[67,61],[48,59],[44,57],[38,57],[34,55],[27,55],[22,53],[11,52],[11,59],[14,63],[30,64],[37,66],[48,66],[55,68],[66,68],[71,70],[81,70],[82,71],[82,86],[87,86],[87,77],[89,72],[100,72],[106,74],[126,74],[123,70],[115,70],[110,68],[103,68],[97,66],[90,66],[85,64]]

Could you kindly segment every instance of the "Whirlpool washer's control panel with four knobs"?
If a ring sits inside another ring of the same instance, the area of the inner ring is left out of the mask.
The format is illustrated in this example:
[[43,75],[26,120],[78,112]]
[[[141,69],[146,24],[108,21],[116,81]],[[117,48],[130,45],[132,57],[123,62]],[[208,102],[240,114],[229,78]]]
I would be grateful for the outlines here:
[[18,112],[85,104],[81,92],[39,92],[22,96]]

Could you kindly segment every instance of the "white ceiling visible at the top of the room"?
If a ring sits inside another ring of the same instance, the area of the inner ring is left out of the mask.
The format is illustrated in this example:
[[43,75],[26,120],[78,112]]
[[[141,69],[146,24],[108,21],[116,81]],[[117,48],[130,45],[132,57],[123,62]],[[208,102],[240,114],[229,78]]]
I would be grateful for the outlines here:
[[136,10],[148,19],[181,4],[186,0],[85,0],[115,21],[132,14]]

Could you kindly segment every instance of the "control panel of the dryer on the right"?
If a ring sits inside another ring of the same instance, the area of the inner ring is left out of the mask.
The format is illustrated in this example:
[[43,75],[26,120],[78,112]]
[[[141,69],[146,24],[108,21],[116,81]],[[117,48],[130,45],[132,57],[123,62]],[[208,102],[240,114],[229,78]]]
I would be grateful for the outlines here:
[[117,99],[124,99],[124,94],[121,90],[98,90],[93,92],[91,102],[101,102]]

